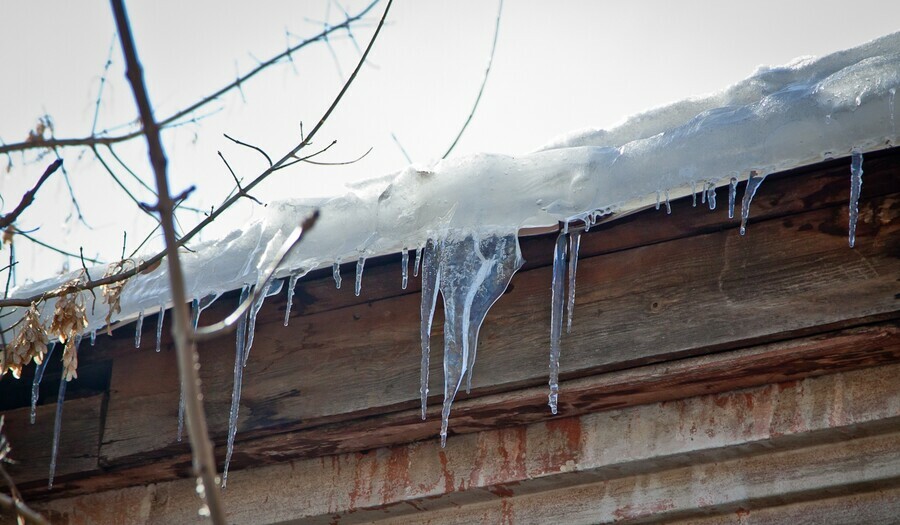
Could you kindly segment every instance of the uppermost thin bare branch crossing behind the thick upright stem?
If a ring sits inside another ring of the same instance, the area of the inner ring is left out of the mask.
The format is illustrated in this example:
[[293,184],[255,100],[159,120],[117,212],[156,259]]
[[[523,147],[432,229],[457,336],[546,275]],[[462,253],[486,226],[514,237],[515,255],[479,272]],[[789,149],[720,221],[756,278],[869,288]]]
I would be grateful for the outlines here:
[[[281,62],[285,58],[290,57],[292,54],[296,53],[300,49],[302,49],[310,44],[313,44],[315,42],[318,42],[320,40],[327,38],[328,35],[330,35],[334,31],[343,30],[343,29],[347,28],[348,26],[361,20],[363,17],[365,17],[369,13],[369,11],[372,10],[373,7],[375,7],[375,4],[377,4],[379,1],[380,0],[373,0],[371,3],[369,3],[369,5],[367,5],[365,8],[363,8],[359,13],[357,13],[356,15],[354,15],[352,17],[347,18],[347,20],[345,20],[344,22],[337,24],[335,26],[329,26],[328,28],[324,29],[322,32],[320,32],[316,35],[313,35],[301,42],[298,42],[296,45],[289,47],[285,51],[273,56],[269,60],[266,60],[266,61],[260,63],[258,66],[251,69],[246,74],[236,78],[233,82],[219,88],[215,92],[211,93],[210,95],[207,95],[206,97],[203,97],[202,99],[191,104],[190,106],[188,106],[180,111],[176,111],[172,115],[160,120],[157,123],[157,125],[161,129],[171,127],[177,121],[181,120],[182,118],[186,117],[187,115],[194,113],[195,111],[206,106],[207,104],[218,100],[220,97],[222,97],[222,95],[225,95],[229,91],[238,89],[242,83],[255,77],[257,74],[259,74],[264,69]],[[130,131],[128,133],[124,133],[122,135],[115,135],[115,136],[104,136],[104,131],[101,131],[99,133],[99,136],[94,136],[92,134],[92,135],[89,135],[87,137],[82,137],[82,138],[57,139],[57,138],[51,137],[47,140],[43,140],[43,139],[33,140],[32,139],[32,140],[26,140],[23,142],[17,142],[14,144],[0,145],[0,155],[2,155],[4,153],[10,153],[13,151],[25,151],[25,150],[31,150],[31,149],[45,149],[45,148],[53,149],[53,148],[69,148],[69,147],[101,146],[101,145],[117,144],[119,142],[125,142],[128,140],[132,140],[136,137],[140,137],[142,134],[143,134],[143,131],[141,129],[137,129],[137,130]]]

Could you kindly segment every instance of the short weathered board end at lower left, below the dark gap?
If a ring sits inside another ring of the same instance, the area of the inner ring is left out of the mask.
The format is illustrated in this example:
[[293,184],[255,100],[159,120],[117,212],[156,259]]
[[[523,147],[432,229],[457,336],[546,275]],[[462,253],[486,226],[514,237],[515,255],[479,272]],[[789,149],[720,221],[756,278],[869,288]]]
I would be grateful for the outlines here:
[[[99,469],[97,452],[105,397],[104,394],[65,401],[57,480],[65,480],[74,474],[83,476]],[[56,403],[38,406],[34,425],[29,423],[30,413],[30,407],[4,413],[4,432],[13,447],[12,458],[16,460],[7,468],[20,489],[33,487],[46,492]]]

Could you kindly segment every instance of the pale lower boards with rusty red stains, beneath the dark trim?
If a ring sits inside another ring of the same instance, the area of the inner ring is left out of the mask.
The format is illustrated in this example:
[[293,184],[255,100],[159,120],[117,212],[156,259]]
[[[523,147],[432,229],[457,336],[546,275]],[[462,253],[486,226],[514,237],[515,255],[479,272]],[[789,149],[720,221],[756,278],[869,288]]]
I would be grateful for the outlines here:
[[[884,366],[491,429],[451,438],[445,449],[430,440],[250,468],[229,476],[224,497],[235,523],[424,521],[442,509],[471,516],[473,505],[504,499],[521,510],[520,522],[540,516],[523,509],[527,502],[558,510],[554,498],[570,512],[632,519],[671,498],[662,510],[674,518],[897,486],[898,372]],[[73,525],[199,519],[190,478],[94,488],[41,508]]]

